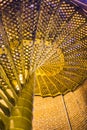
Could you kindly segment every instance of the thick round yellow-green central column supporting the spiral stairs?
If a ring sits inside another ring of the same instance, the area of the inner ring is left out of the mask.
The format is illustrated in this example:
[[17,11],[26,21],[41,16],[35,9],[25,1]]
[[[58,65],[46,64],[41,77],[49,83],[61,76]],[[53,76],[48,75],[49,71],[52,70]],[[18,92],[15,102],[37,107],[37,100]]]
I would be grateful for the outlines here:
[[32,130],[33,90],[34,81],[30,79],[12,110],[9,130]]

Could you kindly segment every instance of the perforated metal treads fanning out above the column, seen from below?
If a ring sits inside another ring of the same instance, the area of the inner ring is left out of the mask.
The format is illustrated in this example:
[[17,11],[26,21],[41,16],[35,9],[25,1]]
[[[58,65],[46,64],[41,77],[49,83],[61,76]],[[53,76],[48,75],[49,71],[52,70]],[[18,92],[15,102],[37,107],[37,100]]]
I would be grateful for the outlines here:
[[35,72],[35,95],[56,96],[76,89],[87,78],[86,5],[77,3],[0,1],[0,58],[9,79],[11,65],[21,84]]

